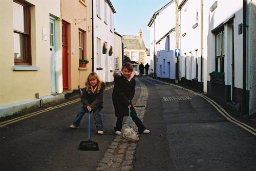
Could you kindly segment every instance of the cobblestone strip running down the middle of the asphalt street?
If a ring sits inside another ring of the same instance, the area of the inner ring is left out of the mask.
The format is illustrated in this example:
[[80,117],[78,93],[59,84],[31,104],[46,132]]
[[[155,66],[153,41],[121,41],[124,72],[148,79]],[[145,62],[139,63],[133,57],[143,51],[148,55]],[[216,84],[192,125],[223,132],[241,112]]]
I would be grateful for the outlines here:
[[[137,83],[141,86],[141,93],[137,103],[135,104],[136,112],[138,117],[143,122],[143,117],[145,113],[145,107],[141,108],[140,106],[146,106],[147,101],[147,88],[146,86],[137,79]],[[131,119],[132,121],[132,119]],[[129,127],[129,118],[127,117],[124,121],[123,130]],[[132,121],[132,127],[137,132],[139,132],[135,123]],[[99,162],[96,170],[97,171],[130,171],[133,169],[133,157],[136,150],[138,142],[129,141],[124,139],[123,136],[116,136],[108,150],[106,150],[103,158]]]

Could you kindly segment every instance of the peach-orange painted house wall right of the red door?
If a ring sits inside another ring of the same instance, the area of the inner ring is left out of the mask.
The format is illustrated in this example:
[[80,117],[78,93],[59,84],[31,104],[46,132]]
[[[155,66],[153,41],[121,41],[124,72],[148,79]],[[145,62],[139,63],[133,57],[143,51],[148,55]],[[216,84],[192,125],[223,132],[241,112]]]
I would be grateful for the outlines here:
[[[92,71],[91,32],[89,32],[89,30],[91,31],[90,8],[90,1],[83,3],[82,1],[61,0],[61,20],[68,22],[68,82],[70,90],[77,89],[78,86],[81,88],[85,87],[84,83]],[[78,20],[75,21],[75,18]],[[86,18],[86,20],[81,20],[83,18]],[[75,22],[77,23],[76,25]],[[79,68],[79,29],[86,32],[86,41],[84,41],[86,43],[86,50],[84,51],[87,54],[84,58],[89,60],[87,69]],[[75,52],[74,55],[72,51]]]

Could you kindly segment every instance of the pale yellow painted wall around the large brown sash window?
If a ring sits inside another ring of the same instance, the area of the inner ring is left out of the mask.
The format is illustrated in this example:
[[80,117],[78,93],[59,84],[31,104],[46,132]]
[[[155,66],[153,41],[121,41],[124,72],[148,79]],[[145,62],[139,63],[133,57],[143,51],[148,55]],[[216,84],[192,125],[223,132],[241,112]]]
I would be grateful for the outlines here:
[[46,28],[49,35],[49,14],[53,14],[57,18],[60,17],[60,1],[31,0],[27,2],[34,5],[31,7],[32,65],[38,66],[40,69],[12,70],[14,66],[13,2],[1,1],[0,20],[5,25],[0,26],[0,30],[2,30],[0,33],[0,72],[3,80],[0,85],[0,105],[35,99],[37,92],[39,96],[51,94],[49,36],[47,36],[47,41],[42,40],[41,37],[42,28]]

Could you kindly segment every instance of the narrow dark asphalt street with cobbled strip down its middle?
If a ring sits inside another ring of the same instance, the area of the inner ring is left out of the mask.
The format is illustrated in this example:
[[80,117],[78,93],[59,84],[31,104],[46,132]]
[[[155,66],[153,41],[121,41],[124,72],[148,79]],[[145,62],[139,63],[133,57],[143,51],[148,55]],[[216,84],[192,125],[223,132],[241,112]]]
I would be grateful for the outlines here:
[[136,85],[133,104],[151,131],[138,142],[114,133],[110,84],[101,111],[104,135],[96,134],[91,116],[91,140],[99,151],[78,150],[88,140],[88,115],[81,129],[70,129],[81,107],[79,99],[70,99],[0,121],[1,170],[255,170],[252,120],[179,85],[144,76]]

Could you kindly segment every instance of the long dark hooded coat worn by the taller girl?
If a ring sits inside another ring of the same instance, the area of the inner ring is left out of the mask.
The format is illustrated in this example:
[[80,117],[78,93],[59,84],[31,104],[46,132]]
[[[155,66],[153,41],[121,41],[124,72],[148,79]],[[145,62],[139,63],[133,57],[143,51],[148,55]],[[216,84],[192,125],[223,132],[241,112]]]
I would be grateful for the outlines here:
[[[131,110],[135,110],[132,100],[135,94],[135,71],[131,75],[131,80],[127,80],[121,72],[114,74],[114,88],[112,92],[112,101],[115,108],[115,116],[129,116],[128,106],[131,104]],[[130,101],[130,102],[129,102]]]

